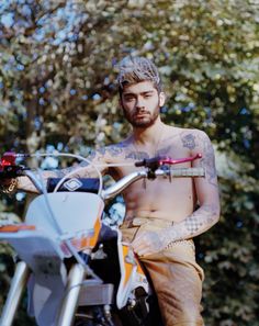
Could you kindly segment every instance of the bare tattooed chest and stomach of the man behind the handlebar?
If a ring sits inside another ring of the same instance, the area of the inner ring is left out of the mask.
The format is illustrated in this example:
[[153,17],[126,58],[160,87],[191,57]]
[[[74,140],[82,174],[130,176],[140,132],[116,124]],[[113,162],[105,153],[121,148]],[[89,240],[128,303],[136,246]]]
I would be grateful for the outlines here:
[[[195,151],[198,144],[195,131],[167,127],[166,133],[154,146],[136,147],[126,139],[117,145],[105,147],[108,164],[127,164],[154,156],[183,158]],[[191,167],[190,162],[178,167]],[[121,166],[110,168],[109,173],[119,180],[137,168]],[[126,204],[126,220],[134,217],[158,217],[179,222],[192,214],[196,198],[191,178],[157,178],[156,180],[139,180],[123,192]]]

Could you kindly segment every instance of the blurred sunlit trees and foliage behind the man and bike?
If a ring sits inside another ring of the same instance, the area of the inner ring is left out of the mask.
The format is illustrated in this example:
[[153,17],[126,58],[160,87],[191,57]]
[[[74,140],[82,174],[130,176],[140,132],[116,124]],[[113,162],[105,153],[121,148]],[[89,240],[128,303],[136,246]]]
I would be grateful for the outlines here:
[[[1,154],[87,156],[121,140],[116,64],[130,54],[159,67],[164,122],[205,131],[216,151],[222,216],[195,238],[205,325],[258,326],[258,0],[1,0]],[[0,217],[22,218],[25,200],[1,195]],[[0,245],[0,306],[11,254]],[[15,325],[35,325],[25,305]]]

